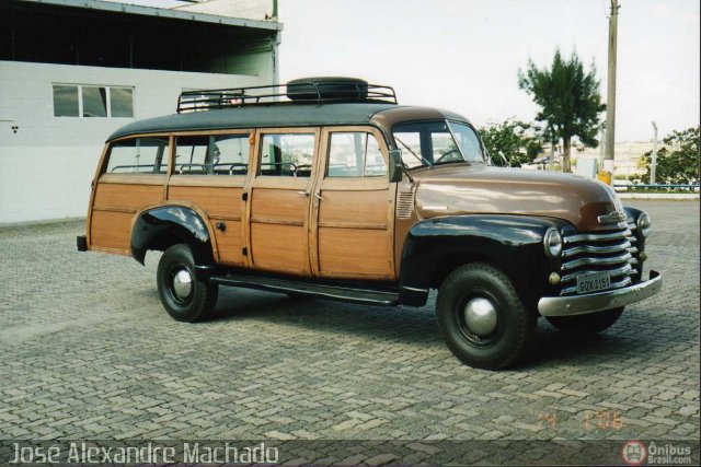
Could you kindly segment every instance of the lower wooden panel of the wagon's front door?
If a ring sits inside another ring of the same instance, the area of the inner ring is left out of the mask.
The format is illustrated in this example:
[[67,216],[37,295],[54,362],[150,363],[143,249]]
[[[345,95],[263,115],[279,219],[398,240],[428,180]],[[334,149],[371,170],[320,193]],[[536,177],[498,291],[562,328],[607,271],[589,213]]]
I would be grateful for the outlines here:
[[319,268],[324,277],[390,279],[386,230],[319,227]]

